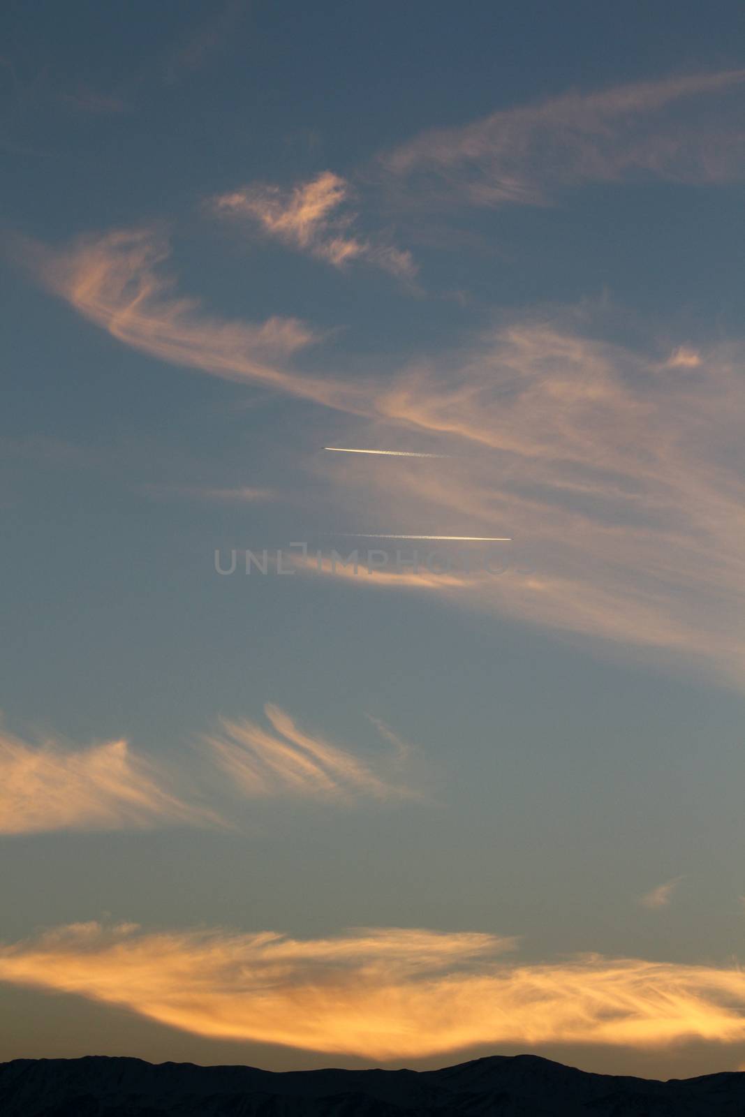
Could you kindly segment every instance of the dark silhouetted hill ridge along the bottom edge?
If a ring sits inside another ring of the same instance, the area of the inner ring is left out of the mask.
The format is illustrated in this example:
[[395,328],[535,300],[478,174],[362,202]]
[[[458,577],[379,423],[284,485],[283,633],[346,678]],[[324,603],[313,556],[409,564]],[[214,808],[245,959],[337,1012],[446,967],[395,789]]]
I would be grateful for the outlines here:
[[195,1067],[140,1059],[0,1063],[2,1117],[743,1117],[745,1073],[658,1082],[536,1056],[442,1070]]

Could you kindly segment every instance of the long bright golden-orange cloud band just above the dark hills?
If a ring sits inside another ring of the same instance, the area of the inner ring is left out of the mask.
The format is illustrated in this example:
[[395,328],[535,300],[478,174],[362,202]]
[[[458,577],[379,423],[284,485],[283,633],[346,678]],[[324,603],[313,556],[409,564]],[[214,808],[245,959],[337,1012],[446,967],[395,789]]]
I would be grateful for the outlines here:
[[362,928],[317,939],[61,927],[0,948],[0,981],[125,1006],[211,1038],[366,1059],[477,1046],[745,1039],[736,966],[583,955],[519,963],[514,938]]

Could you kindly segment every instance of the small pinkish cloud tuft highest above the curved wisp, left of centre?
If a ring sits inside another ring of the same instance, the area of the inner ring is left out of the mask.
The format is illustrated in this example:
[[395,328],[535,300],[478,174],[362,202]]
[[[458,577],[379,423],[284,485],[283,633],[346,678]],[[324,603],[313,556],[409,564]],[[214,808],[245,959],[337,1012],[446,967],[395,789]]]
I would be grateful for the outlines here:
[[267,236],[334,267],[361,260],[401,279],[412,279],[417,267],[411,252],[360,239],[350,231],[356,220],[354,213],[344,209],[350,195],[345,179],[333,171],[323,171],[292,191],[254,184],[213,198],[210,207],[221,217],[254,221]]

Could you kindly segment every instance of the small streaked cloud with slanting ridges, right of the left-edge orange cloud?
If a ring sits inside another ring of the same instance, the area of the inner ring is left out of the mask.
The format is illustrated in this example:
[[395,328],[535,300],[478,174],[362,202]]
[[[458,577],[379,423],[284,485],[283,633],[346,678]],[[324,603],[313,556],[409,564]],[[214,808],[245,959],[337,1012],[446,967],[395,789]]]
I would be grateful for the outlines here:
[[383,757],[373,766],[318,735],[304,733],[277,706],[267,705],[265,713],[271,731],[248,719],[222,719],[221,732],[206,738],[212,758],[243,795],[340,802],[416,796],[401,782],[400,750],[393,763]]

